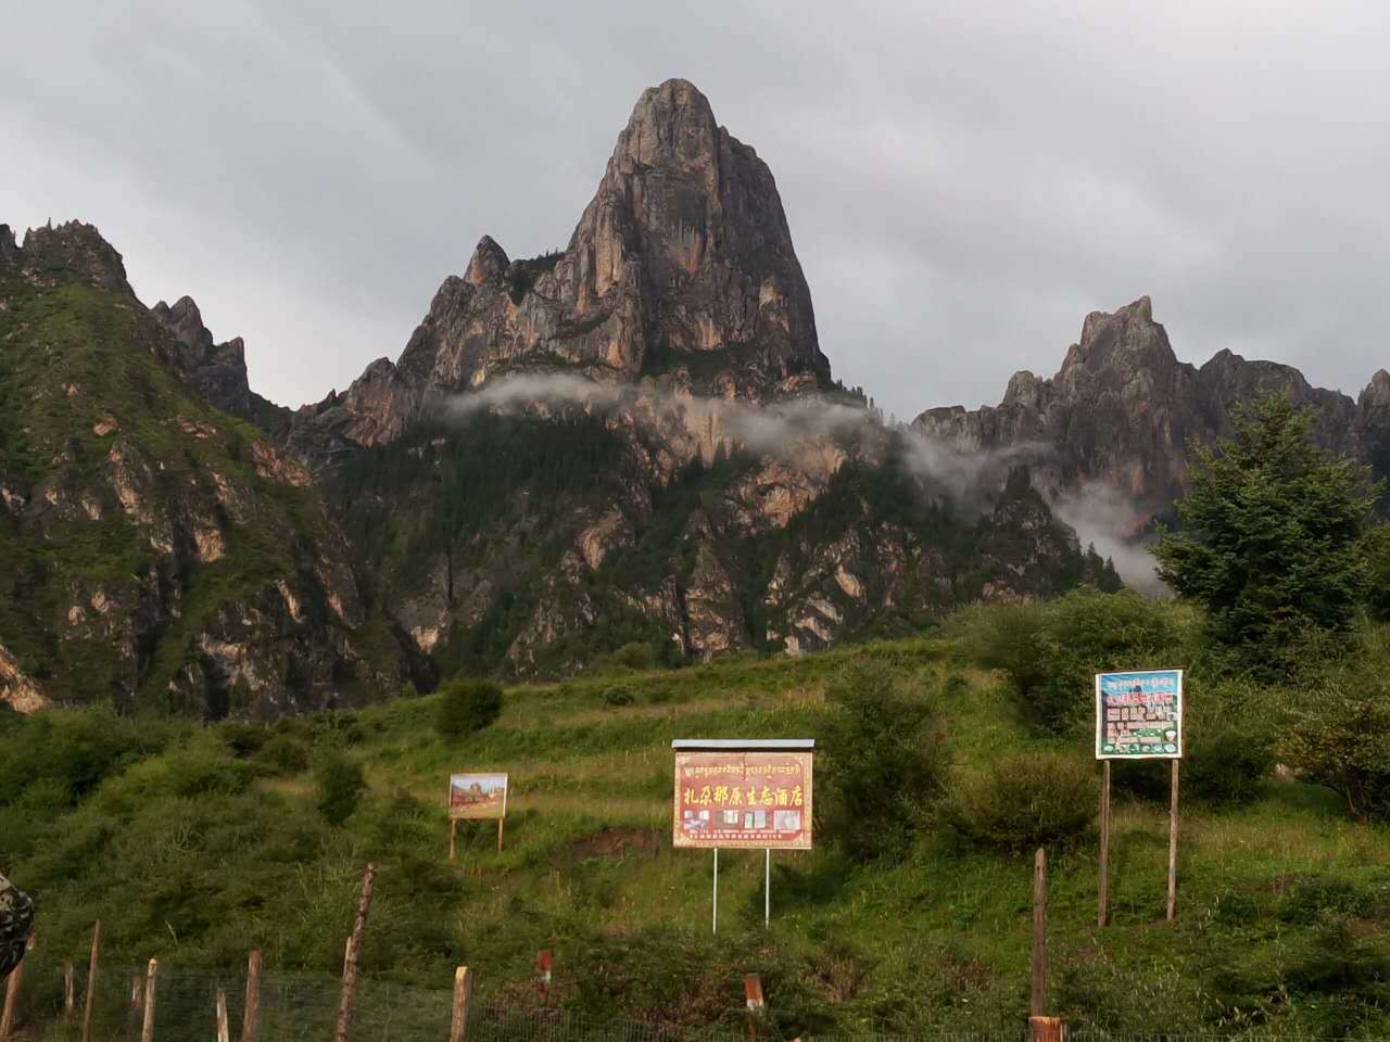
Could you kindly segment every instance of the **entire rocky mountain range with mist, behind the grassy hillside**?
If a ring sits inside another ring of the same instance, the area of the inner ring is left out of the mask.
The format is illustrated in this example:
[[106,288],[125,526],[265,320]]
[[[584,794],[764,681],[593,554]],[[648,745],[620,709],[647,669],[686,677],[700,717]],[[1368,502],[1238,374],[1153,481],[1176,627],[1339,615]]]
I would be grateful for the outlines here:
[[1198,370],[1147,299],[997,408],[885,422],[831,377],[771,172],[684,81],[638,100],[564,250],[484,236],[395,363],[293,411],[95,228],[0,225],[0,700],[275,716],[1113,588],[1077,529],[1137,534],[1264,386],[1390,464],[1384,371],[1351,402]]

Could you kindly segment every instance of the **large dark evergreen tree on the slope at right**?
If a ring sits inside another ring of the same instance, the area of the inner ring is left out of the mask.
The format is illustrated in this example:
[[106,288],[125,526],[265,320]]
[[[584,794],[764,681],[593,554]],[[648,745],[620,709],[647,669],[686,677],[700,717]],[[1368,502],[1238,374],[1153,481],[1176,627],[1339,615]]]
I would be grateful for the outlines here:
[[1180,528],[1154,549],[1159,577],[1257,672],[1284,671],[1309,636],[1344,634],[1368,592],[1379,486],[1312,445],[1315,420],[1287,395],[1237,407],[1233,439],[1193,449]]

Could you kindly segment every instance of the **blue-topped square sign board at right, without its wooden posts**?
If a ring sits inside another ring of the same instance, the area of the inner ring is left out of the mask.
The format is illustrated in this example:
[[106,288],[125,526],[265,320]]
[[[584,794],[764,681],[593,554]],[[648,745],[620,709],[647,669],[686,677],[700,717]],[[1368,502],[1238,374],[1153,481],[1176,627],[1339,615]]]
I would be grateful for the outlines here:
[[1182,757],[1182,670],[1095,674],[1097,760]]

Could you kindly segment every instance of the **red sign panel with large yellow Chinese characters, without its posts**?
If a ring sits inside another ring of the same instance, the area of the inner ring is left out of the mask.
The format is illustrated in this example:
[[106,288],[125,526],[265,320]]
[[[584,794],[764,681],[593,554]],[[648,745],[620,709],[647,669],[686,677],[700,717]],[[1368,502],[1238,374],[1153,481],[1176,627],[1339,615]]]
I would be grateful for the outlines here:
[[810,849],[810,753],[677,753],[674,846]]

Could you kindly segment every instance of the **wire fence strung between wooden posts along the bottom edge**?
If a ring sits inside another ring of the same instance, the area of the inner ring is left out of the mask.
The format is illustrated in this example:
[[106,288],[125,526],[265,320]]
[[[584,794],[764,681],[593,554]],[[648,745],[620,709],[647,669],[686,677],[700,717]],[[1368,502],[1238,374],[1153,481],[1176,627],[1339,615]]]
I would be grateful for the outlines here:
[[[14,1029],[0,1042],[81,1042],[88,967],[31,954],[15,992]],[[71,1006],[68,1004],[71,979]],[[156,975],[156,1042],[217,1041],[218,995],[225,1000],[228,1038],[242,1038],[246,975],[188,973],[160,967]],[[329,975],[265,973],[260,975],[256,1042],[329,1042],[334,1038],[341,981]],[[101,966],[92,995],[92,1042],[139,1042],[146,1020],[146,967]],[[360,979],[353,993],[350,1042],[443,1042],[450,1038],[453,993]],[[737,1018],[709,1028],[659,1023],[598,1020],[549,1006],[503,1000],[468,1004],[467,1042],[788,1042],[769,1021]],[[1109,1034],[1073,1029],[1070,1042],[1334,1042],[1311,1034]],[[813,1042],[1026,1042],[1029,1029],[991,1025],[981,1031],[924,1031],[913,1035],[823,1034]],[[802,1036],[799,1042],[812,1042]],[[1350,1042],[1350,1039],[1347,1041]],[[1355,1042],[1390,1042],[1357,1036]]]

